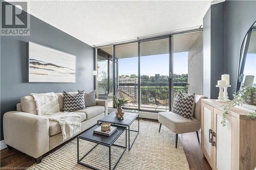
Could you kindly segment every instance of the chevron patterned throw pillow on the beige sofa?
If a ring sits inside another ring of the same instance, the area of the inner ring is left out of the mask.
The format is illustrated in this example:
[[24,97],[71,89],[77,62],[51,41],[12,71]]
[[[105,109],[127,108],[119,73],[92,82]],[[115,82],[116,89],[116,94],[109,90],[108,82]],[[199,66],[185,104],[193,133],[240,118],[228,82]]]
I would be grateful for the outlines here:
[[85,109],[86,105],[84,104],[84,91],[80,91],[76,95],[63,91],[63,105],[63,110],[67,112]]

